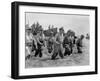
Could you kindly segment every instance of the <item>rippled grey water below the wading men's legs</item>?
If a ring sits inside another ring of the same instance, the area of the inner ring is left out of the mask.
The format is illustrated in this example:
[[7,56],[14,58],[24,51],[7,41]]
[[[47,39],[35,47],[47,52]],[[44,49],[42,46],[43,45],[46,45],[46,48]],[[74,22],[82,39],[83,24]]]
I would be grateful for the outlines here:
[[77,53],[74,47],[74,53],[70,56],[65,56],[63,59],[57,56],[56,60],[51,60],[52,54],[48,54],[47,49],[43,48],[43,57],[32,56],[30,59],[25,60],[25,68],[89,65],[89,40],[83,40],[83,45],[82,54]]

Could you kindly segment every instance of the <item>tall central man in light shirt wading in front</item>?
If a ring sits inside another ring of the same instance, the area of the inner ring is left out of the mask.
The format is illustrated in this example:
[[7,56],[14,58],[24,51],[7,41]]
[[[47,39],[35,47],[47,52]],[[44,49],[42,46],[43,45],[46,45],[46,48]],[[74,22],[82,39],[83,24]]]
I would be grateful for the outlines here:
[[59,32],[55,36],[54,51],[51,57],[52,60],[55,60],[58,54],[61,58],[63,58],[63,54],[62,54],[62,43],[63,43],[63,38],[64,38],[63,34],[64,34],[64,29],[62,27],[59,29]]

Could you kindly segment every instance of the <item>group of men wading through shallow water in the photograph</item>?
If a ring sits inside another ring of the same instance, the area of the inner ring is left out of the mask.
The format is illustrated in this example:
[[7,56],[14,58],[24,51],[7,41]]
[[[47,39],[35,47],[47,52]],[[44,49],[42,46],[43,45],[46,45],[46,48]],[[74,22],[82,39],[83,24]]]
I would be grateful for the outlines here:
[[[47,38],[42,28],[36,35],[33,35],[31,29],[28,29],[26,32],[26,59],[31,58],[31,56],[41,58],[43,56],[43,47],[51,54],[51,60],[55,60],[58,55],[61,59],[64,56],[70,56],[73,53],[73,47],[75,45],[77,47],[77,53],[82,53],[82,40],[84,36],[80,35],[77,38],[76,36],[64,34],[63,27],[59,28],[59,32],[55,36],[51,31],[50,36]],[[63,49],[65,49],[64,52],[62,51]]]

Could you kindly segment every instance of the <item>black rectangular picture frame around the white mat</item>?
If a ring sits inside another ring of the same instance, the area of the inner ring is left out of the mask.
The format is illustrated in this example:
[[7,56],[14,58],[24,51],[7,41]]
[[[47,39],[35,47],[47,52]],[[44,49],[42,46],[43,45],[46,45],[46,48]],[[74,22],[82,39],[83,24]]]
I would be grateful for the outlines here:
[[[43,74],[43,75],[26,75],[19,76],[19,6],[41,6],[41,7],[56,7],[56,8],[74,8],[74,9],[89,9],[95,10],[95,71],[89,72],[75,72],[75,73],[59,73],[59,74]],[[43,77],[58,77],[58,76],[72,76],[72,75],[88,75],[98,73],[97,62],[97,7],[96,6],[81,6],[81,5],[62,5],[49,3],[31,3],[31,2],[12,2],[11,6],[11,78],[26,79],[26,78],[43,78]]]

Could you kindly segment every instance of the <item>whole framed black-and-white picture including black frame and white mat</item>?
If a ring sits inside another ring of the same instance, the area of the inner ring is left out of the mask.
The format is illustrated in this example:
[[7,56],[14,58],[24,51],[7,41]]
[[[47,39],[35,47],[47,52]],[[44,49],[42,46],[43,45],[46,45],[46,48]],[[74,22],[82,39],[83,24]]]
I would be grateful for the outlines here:
[[12,78],[97,74],[97,7],[12,3]]

